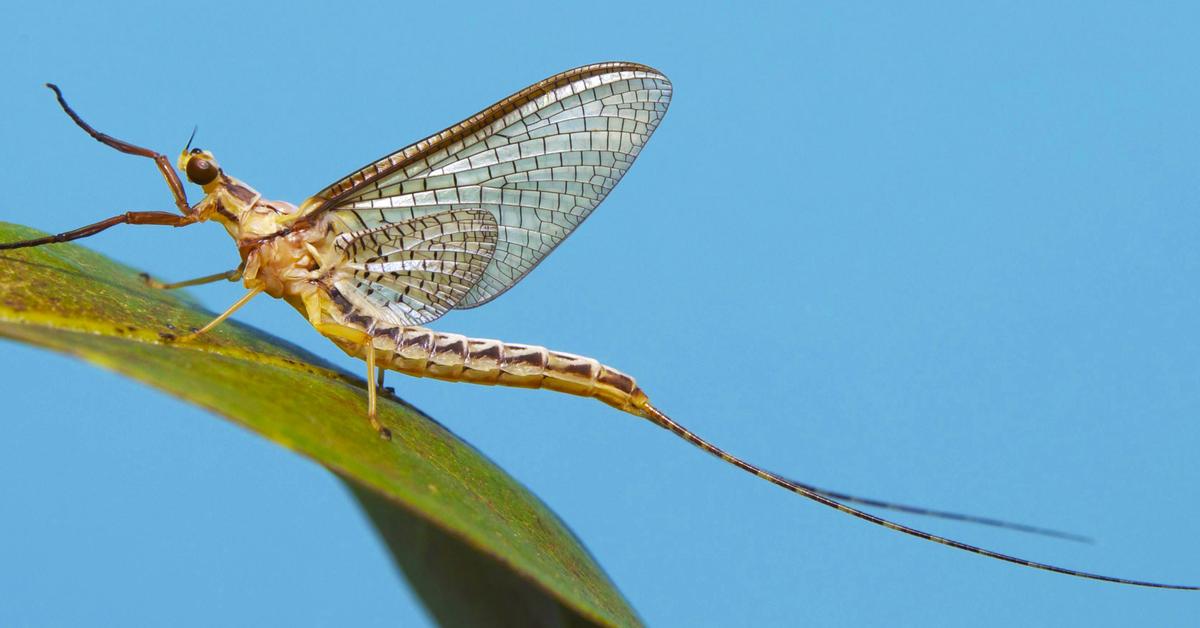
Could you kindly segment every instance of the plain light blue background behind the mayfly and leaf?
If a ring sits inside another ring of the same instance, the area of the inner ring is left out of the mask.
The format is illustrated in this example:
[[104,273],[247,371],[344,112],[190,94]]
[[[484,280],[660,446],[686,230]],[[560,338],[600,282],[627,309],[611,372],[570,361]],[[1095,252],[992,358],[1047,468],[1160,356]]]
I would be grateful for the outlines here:
[[[918,527],[1200,582],[1194,4],[41,5],[0,10],[0,217],[49,231],[170,205],[46,80],[168,155],[198,124],[228,172],[300,202],[557,71],[653,65],[674,101],[629,177],[516,289],[436,328],[594,355],[796,478],[1099,544]],[[88,245],[167,279],[236,261],[216,226]],[[194,293],[220,310],[240,288]],[[238,318],[359,370],[282,303]],[[319,467],[67,358],[5,342],[0,373],[0,624],[427,621]],[[654,626],[1200,609],[864,525],[596,402],[391,383],[541,496]]]

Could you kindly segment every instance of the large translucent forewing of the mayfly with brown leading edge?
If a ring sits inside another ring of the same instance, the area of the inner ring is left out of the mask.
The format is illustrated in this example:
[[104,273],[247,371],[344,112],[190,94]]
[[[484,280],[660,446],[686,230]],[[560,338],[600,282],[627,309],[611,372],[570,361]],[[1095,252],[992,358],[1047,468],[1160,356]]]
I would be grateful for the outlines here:
[[455,307],[494,299],[538,265],[617,185],[671,101],[654,68],[595,64],[530,85],[305,202],[348,232],[448,209],[498,225],[496,255]]

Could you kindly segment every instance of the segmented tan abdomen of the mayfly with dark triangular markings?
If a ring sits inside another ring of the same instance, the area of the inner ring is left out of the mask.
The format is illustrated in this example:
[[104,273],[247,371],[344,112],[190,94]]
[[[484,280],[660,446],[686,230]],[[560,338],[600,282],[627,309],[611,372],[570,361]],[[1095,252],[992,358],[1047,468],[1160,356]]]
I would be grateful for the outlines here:
[[[377,330],[377,334],[379,331]],[[384,369],[446,382],[546,388],[599,399],[641,414],[646,395],[632,377],[592,358],[401,327],[376,336],[376,363]]]

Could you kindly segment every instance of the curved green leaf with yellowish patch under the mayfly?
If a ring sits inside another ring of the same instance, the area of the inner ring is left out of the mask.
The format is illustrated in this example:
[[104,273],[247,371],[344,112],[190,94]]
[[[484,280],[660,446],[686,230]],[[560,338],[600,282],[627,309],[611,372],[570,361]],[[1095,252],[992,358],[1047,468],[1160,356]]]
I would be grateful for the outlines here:
[[[0,223],[0,241],[37,235]],[[0,335],[145,382],[330,468],[440,623],[640,624],[566,526],[479,451],[400,400],[380,399],[392,432],[382,441],[362,379],[250,327],[176,340],[211,318],[76,245],[0,251]]]

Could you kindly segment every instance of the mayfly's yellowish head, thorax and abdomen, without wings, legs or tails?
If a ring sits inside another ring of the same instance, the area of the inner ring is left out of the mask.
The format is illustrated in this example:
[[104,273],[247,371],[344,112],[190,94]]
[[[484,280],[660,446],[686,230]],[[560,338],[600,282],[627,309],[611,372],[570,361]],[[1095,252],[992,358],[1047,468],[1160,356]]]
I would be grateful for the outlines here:
[[[211,155],[198,155],[212,162]],[[180,157],[181,169],[188,159]],[[238,243],[241,280],[251,294],[265,292],[288,301],[347,354],[415,377],[589,396],[646,417],[646,395],[634,378],[592,358],[422,327],[384,327],[356,315],[331,289],[343,271],[344,253],[335,246],[335,229],[328,228],[330,216],[293,231],[299,208],[266,201],[223,173],[204,192],[194,210],[200,220],[221,222]]]

